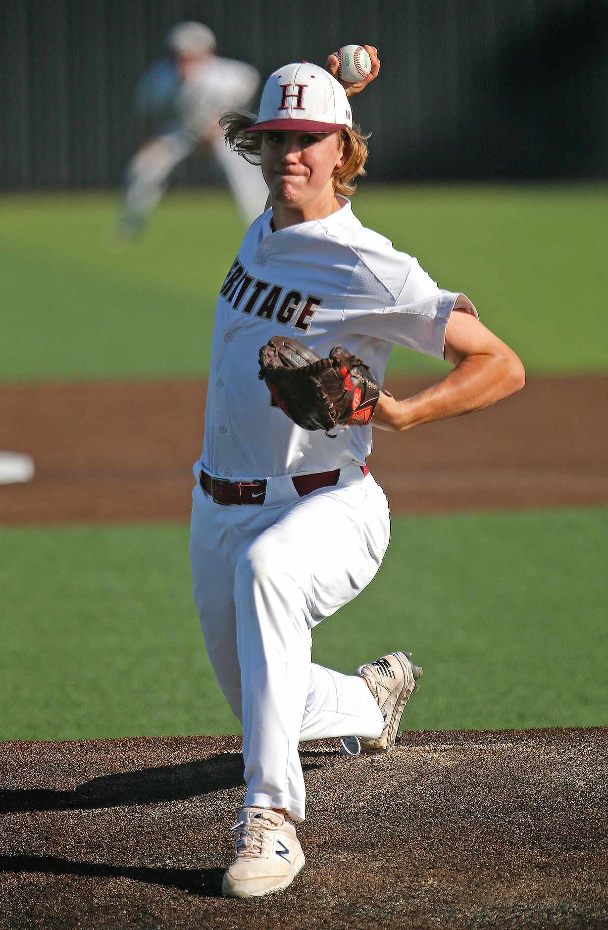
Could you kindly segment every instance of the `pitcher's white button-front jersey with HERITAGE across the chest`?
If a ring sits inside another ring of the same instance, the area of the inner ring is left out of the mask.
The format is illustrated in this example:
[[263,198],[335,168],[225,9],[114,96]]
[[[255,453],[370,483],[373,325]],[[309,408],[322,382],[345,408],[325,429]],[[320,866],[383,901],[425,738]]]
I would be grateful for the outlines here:
[[372,426],[335,435],[302,430],[271,406],[258,351],[272,336],[301,340],[321,357],[342,345],[381,383],[394,343],[443,358],[445,326],[469,299],[442,290],[417,260],[353,215],[350,201],[326,219],[271,231],[271,209],[245,235],[221,286],[200,464],[235,480],[328,472],[363,464]]

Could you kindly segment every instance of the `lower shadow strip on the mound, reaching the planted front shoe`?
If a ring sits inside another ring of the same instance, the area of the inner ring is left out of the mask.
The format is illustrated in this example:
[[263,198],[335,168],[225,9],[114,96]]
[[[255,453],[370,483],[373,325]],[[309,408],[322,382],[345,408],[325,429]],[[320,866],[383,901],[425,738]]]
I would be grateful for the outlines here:
[[149,869],[111,866],[105,862],[71,862],[55,856],[0,856],[0,872],[37,872],[42,875],[80,875],[85,878],[128,878],[161,884],[191,895],[221,897],[223,869]]

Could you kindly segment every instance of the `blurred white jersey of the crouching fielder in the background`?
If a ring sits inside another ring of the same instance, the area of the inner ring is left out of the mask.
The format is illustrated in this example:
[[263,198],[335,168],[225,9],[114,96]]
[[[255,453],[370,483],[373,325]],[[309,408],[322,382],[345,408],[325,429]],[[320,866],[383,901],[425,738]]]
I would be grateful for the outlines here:
[[199,140],[218,113],[244,106],[258,89],[259,74],[244,61],[212,56],[191,67],[182,81],[170,59],[155,62],[139,80],[136,107],[139,114],[157,120],[164,132],[180,129]]

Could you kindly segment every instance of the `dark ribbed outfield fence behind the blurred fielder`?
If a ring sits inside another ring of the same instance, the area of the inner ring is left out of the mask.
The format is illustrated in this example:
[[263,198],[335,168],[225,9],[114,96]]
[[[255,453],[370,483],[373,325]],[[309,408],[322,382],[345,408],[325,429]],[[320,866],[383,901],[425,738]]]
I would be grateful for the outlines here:
[[[377,45],[381,79],[354,104],[373,179],[606,175],[606,0],[4,0],[0,187],[117,184],[137,77],[185,19],[264,76]],[[192,158],[178,180],[216,170]]]

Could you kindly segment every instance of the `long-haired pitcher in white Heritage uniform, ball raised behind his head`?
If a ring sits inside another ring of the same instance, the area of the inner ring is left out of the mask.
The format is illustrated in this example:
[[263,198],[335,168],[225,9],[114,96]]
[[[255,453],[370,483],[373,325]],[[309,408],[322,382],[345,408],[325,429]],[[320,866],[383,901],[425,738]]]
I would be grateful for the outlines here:
[[[257,119],[221,120],[271,192],[220,286],[192,498],[194,599],[243,724],[245,803],[222,886],[233,897],[279,891],[304,865],[300,740],[389,751],[421,674],[404,649],[351,675],[311,662],[313,629],[369,584],[389,544],[387,498],[365,465],[373,427],[406,432],[523,385],[471,301],[352,211],[367,147],[350,97],[379,69],[365,49],[371,72],[347,89],[335,56],[329,70],[285,64]],[[454,367],[397,399],[382,387],[395,344]]]

